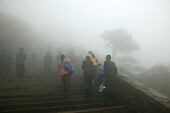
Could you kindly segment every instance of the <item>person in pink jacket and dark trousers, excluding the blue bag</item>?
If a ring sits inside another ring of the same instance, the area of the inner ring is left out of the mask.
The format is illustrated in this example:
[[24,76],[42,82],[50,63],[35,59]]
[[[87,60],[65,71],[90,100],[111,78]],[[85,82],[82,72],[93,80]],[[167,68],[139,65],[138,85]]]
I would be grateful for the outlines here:
[[58,61],[58,70],[60,71],[60,76],[63,81],[64,94],[65,94],[65,96],[69,96],[70,95],[70,85],[71,85],[71,80],[70,80],[71,74],[64,67],[64,64],[66,61],[70,64],[70,66],[72,66],[72,62],[70,61],[70,59],[65,58],[64,55],[61,55],[60,60]]

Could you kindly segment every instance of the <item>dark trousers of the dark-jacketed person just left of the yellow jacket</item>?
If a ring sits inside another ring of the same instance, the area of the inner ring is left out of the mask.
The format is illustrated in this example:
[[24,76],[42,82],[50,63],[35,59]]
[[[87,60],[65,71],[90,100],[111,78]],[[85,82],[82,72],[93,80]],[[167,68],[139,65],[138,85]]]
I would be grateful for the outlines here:
[[84,75],[84,82],[85,82],[85,87],[86,87],[86,96],[91,96],[92,95],[92,80],[93,76],[85,74]]

